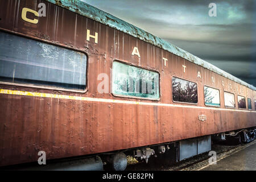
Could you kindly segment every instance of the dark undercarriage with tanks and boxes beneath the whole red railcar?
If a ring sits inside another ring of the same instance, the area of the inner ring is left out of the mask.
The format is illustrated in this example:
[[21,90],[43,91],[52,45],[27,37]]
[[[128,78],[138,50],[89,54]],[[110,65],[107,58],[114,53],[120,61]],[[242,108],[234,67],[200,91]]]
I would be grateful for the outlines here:
[[123,171],[127,166],[127,156],[132,156],[138,161],[145,163],[179,162],[192,156],[211,151],[212,143],[237,145],[249,143],[256,138],[256,127],[248,129],[227,131],[190,138],[170,143],[156,144],[138,148],[130,148],[122,151],[107,152],[83,158],[69,158],[50,160],[47,165],[20,164],[4,167],[7,170],[64,170],[64,171],[98,171],[114,170]]

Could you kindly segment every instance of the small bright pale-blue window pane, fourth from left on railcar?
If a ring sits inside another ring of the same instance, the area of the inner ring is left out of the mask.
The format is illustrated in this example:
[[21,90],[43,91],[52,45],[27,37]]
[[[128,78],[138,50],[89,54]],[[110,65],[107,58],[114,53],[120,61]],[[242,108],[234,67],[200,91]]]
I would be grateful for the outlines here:
[[204,103],[207,106],[220,107],[220,90],[204,86]]

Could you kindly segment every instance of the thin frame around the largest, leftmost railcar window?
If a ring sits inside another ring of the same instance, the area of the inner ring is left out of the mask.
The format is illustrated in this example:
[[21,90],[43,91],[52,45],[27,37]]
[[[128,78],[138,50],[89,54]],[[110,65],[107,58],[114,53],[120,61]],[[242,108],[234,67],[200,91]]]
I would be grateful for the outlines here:
[[7,32],[8,34],[13,34],[16,36],[22,36],[23,38],[27,38],[27,39],[32,39],[32,40],[36,40],[38,42],[43,42],[43,43],[47,43],[47,44],[51,44],[53,46],[58,46],[58,47],[63,47],[63,48],[67,48],[67,49],[72,49],[73,51],[77,51],[77,52],[81,52],[84,53],[86,56],[86,79],[85,79],[85,89],[84,90],[76,90],[76,89],[64,89],[64,88],[57,88],[54,86],[40,86],[40,85],[34,85],[34,84],[18,84],[18,83],[12,83],[12,82],[5,82],[5,81],[0,81],[0,84],[3,85],[12,85],[12,86],[22,86],[22,87],[26,87],[26,88],[39,88],[39,89],[47,89],[47,90],[57,90],[57,91],[65,91],[65,92],[76,92],[76,93],[86,93],[88,92],[88,70],[89,70],[89,56],[88,53],[80,50],[78,48],[75,47],[70,47],[70,46],[65,46],[59,43],[55,43],[55,42],[51,42],[49,40],[45,40],[45,39],[41,39],[41,38],[36,38],[30,35],[25,35],[19,32],[13,32],[10,30],[5,30],[3,28],[0,28],[0,31],[2,32]]

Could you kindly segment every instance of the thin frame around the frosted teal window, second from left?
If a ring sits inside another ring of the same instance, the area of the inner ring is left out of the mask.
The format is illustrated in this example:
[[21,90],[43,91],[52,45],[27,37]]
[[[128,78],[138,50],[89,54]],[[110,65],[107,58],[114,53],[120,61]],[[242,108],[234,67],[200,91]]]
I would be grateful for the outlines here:
[[[113,78],[113,63],[114,62],[119,62],[119,63],[122,63],[122,64],[126,64],[126,65],[130,65],[132,67],[137,67],[137,68],[141,68],[141,69],[146,69],[147,71],[151,71],[151,72],[155,72],[155,73],[158,73],[159,75],[159,78],[158,78],[158,92],[159,92],[159,98],[157,99],[154,99],[154,98],[146,98],[146,97],[136,97],[136,96],[124,96],[124,95],[119,95],[119,94],[114,94],[113,93],[113,89],[112,89],[112,86],[113,86],[113,82],[112,82],[112,78]],[[114,96],[114,97],[122,97],[122,98],[134,98],[134,99],[139,99],[139,100],[150,100],[150,101],[160,101],[161,100],[161,75],[160,75],[160,72],[154,70],[154,69],[150,69],[150,68],[145,68],[143,66],[138,66],[138,65],[135,65],[133,63],[130,63],[128,61],[124,61],[124,60],[119,60],[119,59],[113,59],[112,60],[112,63],[111,63],[111,71],[110,71],[110,92],[111,94]]]

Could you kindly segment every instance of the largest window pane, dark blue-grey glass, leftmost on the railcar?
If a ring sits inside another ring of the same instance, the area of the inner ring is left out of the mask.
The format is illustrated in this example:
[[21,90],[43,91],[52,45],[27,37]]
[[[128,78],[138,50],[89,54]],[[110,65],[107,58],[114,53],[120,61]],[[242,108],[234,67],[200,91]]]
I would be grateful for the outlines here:
[[0,81],[83,90],[84,53],[0,32]]

